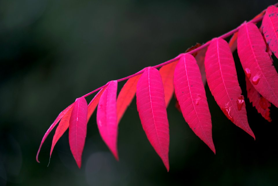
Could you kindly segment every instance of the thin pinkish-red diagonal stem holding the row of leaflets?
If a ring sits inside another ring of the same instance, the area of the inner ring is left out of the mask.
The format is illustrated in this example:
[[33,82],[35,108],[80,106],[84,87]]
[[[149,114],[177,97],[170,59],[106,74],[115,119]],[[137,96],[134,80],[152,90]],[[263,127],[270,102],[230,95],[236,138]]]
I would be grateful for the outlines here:
[[[274,4],[274,6],[278,6],[278,3]],[[265,11],[266,11],[266,9],[263,10],[262,12],[265,12]],[[262,14],[262,15],[259,16],[259,17],[257,17],[256,19],[252,19],[252,20],[250,20],[250,21],[248,21],[248,22],[250,22],[250,23],[257,23],[257,22],[261,21],[261,20],[263,19],[263,17],[264,17],[264,14]],[[241,26],[241,25],[240,25],[240,26]],[[235,28],[235,29],[233,29],[233,30],[231,30],[231,31],[229,31],[229,32],[227,32],[227,33],[225,33],[225,34],[219,36],[218,38],[225,39],[225,38],[227,38],[227,37],[233,35],[235,32],[237,32],[237,31],[239,30],[240,26],[238,26],[237,28]],[[153,68],[159,68],[159,67],[162,67],[162,66],[164,66],[164,65],[167,65],[167,64],[169,64],[169,63],[175,62],[175,61],[179,60],[180,57],[181,57],[182,55],[184,55],[184,54],[193,54],[193,53],[195,53],[195,52],[198,52],[199,50],[202,50],[203,48],[206,48],[207,46],[209,46],[209,44],[211,43],[211,41],[212,41],[212,40],[207,41],[207,42],[206,42],[205,44],[203,44],[202,46],[200,46],[200,47],[198,47],[198,48],[195,48],[194,50],[191,50],[191,51],[189,51],[189,52],[181,53],[181,54],[179,54],[177,57],[175,57],[175,58],[173,58],[173,59],[170,59],[169,61],[166,61],[166,62],[164,62],[164,63],[161,63],[161,64],[158,64],[158,65],[156,65],[156,66],[153,66]],[[146,67],[146,68],[147,68],[147,67]],[[117,82],[121,82],[121,81],[127,80],[127,79],[129,79],[129,78],[131,78],[131,77],[134,77],[134,76],[136,76],[136,75],[142,74],[142,73],[145,71],[146,68],[143,68],[142,70],[140,70],[139,72],[137,72],[137,73],[135,73],[135,74],[132,74],[132,75],[129,75],[129,76],[127,76],[127,77],[118,79]],[[87,97],[87,96],[89,96],[89,95],[95,93],[96,91],[99,91],[100,89],[103,89],[103,88],[106,87],[107,85],[108,85],[108,83],[105,84],[105,85],[103,85],[103,86],[101,86],[101,87],[99,87],[98,89],[96,89],[96,90],[94,90],[94,91],[92,91],[92,92],[90,92],[90,93],[87,93],[87,94],[83,95],[83,97]]]

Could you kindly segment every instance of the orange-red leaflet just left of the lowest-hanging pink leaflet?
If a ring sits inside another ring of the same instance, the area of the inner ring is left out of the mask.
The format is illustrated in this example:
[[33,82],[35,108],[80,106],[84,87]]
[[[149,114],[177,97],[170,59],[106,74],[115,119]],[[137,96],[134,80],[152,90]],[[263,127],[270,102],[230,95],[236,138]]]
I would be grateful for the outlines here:
[[133,100],[133,97],[136,93],[136,85],[141,77],[140,75],[136,75],[134,77],[131,77],[125,85],[122,87],[118,98],[117,98],[117,120],[118,123],[122,119],[122,116],[124,115],[125,111],[127,110],[127,107],[130,105],[130,103]]

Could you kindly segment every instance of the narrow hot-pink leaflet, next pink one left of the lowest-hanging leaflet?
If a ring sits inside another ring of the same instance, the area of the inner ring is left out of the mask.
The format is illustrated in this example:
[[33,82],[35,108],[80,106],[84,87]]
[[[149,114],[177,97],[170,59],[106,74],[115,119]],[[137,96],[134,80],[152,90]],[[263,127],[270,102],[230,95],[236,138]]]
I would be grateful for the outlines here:
[[98,103],[96,121],[100,136],[115,156],[116,160],[119,160],[117,150],[117,86],[117,81],[111,81],[108,84],[107,89],[103,92]]

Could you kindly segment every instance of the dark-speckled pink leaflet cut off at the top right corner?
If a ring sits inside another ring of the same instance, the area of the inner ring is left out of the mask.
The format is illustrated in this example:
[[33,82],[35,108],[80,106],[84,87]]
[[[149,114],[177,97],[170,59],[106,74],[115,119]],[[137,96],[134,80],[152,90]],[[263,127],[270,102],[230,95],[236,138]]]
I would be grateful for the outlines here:
[[278,58],[278,8],[269,6],[262,21],[264,38],[269,48]]

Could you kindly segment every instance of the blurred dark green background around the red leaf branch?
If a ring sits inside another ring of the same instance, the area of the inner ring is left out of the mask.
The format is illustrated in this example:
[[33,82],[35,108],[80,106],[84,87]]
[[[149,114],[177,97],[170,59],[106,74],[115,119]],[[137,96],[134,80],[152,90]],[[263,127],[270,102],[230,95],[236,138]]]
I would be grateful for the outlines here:
[[216,155],[191,131],[173,99],[167,109],[169,173],[146,138],[134,101],[119,125],[120,162],[101,140],[95,113],[81,169],[67,131],[49,167],[54,130],[41,163],[35,160],[44,133],[76,97],[222,35],[274,3],[0,1],[0,185],[277,185],[278,109],[272,106],[268,123],[251,106],[236,52],[255,141],[225,117],[206,85]]

